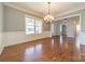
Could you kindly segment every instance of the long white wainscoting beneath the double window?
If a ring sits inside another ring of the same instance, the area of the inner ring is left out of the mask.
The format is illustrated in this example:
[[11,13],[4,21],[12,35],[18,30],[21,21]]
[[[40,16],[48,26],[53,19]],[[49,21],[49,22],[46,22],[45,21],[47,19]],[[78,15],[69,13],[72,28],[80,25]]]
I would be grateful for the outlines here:
[[17,44],[26,41],[32,41],[41,38],[51,37],[51,31],[43,31],[42,34],[37,35],[26,35],[25,31],[10,31],[4,33],[4,47]]

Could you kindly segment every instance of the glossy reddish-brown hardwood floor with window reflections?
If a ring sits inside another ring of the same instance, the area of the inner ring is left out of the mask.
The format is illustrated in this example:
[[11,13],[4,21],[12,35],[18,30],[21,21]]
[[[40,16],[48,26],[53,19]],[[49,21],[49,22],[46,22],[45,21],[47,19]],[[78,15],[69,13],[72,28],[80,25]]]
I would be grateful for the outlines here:
[[4,48],[0,61],[6,62],[69,62],[82,61],[75,40],[53,37]]

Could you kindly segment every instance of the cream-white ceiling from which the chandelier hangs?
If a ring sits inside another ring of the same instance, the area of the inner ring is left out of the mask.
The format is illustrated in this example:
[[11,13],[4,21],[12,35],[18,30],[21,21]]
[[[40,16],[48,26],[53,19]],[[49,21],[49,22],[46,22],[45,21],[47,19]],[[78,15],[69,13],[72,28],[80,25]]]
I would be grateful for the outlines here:
[[[16,5],[17,8],[32,11],[34,13],[44,16],[47,14],[48,5],[47,2],[8,2],[9,4]],[[85,2],[51,2],[51,14],[59,15],[70,10],[79,9],[85,5]]]

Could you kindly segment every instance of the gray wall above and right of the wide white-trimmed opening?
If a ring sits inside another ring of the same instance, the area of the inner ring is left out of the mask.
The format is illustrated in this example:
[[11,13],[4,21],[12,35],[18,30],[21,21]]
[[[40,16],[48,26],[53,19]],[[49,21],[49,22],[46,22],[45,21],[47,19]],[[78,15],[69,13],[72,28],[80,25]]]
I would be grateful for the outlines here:
[[61,16],[57,16],[56,20],[60,18],[60,17],[66,17],[66,16],[70,16],[70,15],[74,15],[74,14],[81,14],[81,31],[85,31],[85,9],[83,10],[79,10],[75,12],[71,12]]

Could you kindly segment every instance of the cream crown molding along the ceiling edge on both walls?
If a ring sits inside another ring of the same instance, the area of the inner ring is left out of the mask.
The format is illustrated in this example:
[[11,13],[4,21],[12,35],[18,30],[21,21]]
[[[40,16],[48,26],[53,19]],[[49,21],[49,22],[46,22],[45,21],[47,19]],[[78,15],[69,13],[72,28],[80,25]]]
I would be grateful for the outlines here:
[[[32,16],[36,16],[36,17],[43,18],[43,16],[44,16],[44,15],[39,14],[39,13],[37,13],[37,12],[32,12],[32,11],[30,11],[30,10],[28,11],[28,10],[18,8],[18,7],[16,7],[16,5],[14,5],[14,4],[11,4],[11,3],[4,2],[3,4],[6,5],[6,7],[10,7],[10,8],[17,9],[17,10],[19,10],[19,11],[23,11],[23,12],[28,13],[29,15],[32,15]],[[56,14],[56,15],[54,16],[54,17],[55,17],[55,21],[66,17],[66,16],[60,17],[60,16],[62,16],[62,15],[66,15],[66,14],[69,14],[69,13],[72,13],[72,12],[75,12],[75,11],[80,11],[80,10],[83,10],[83,9],[85,9],[85,7],[80,7],[80,8],[77,8],[77,9],[72,9],[72,10],[66,11],[66,12],[63,12],[63,13],[60,13],[60,14],[58,14],[58,15]],[[77,14],[76,14],[76,15],[77,15]]]

